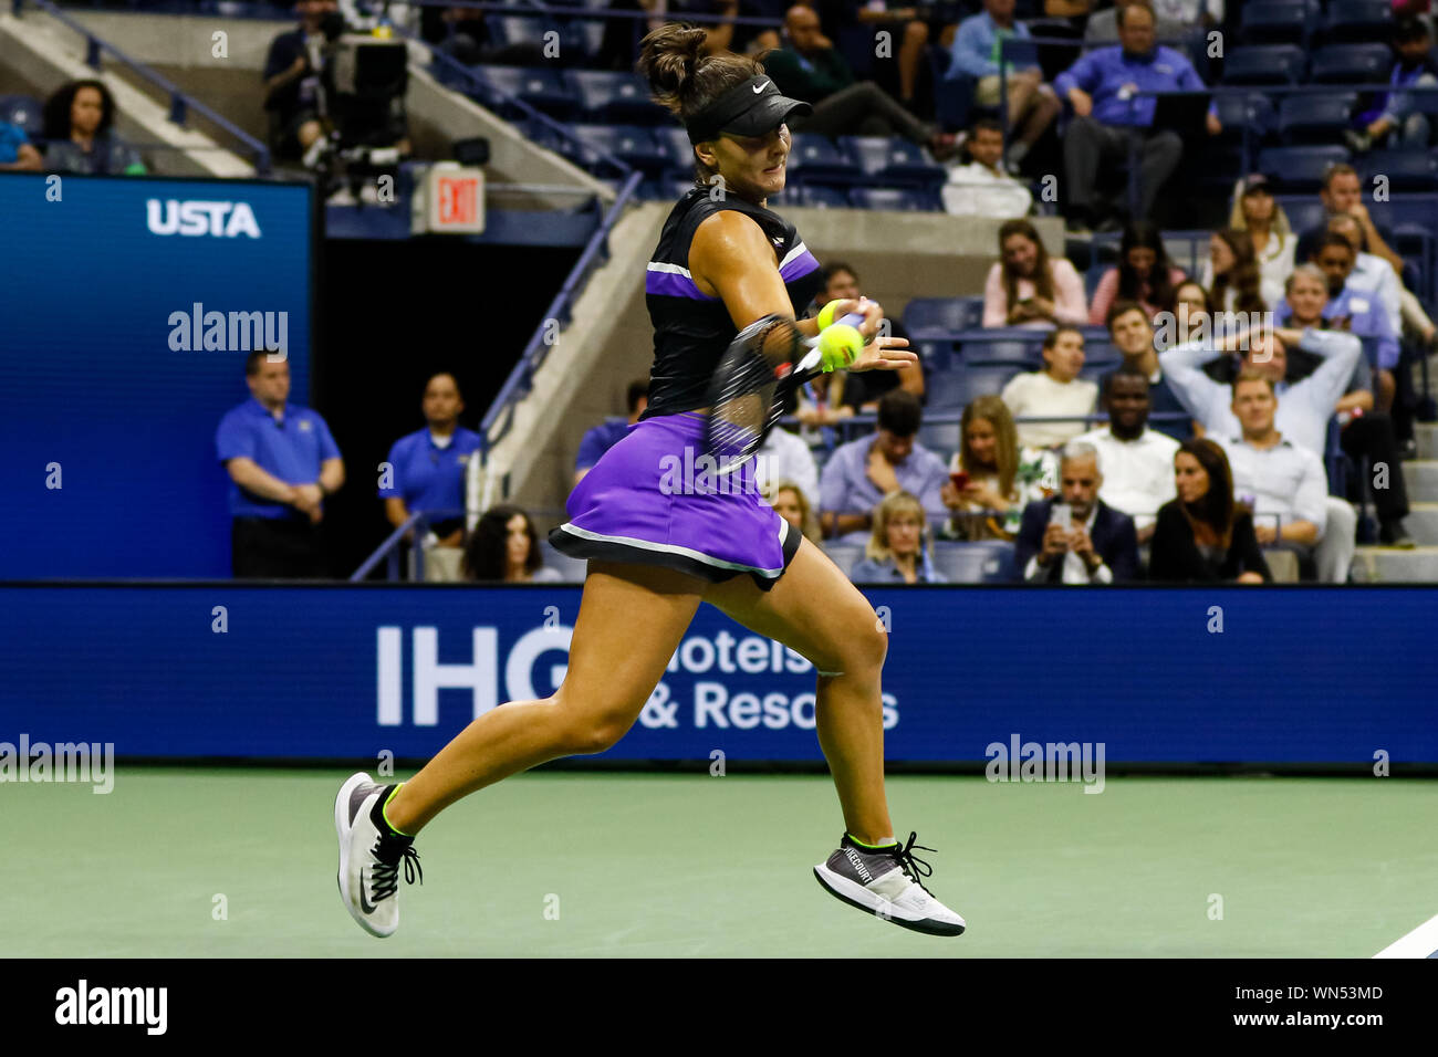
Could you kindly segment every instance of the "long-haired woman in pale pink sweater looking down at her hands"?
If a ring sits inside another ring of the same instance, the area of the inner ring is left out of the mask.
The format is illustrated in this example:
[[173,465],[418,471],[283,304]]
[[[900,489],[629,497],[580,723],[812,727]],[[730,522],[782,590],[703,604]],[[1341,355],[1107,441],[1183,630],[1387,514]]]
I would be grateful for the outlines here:
[[985,326],[1077,326],[1084,322],[1083,279],[1067,257],[1050,257],[1027,220],[998,229],[999,259],[984,282]]

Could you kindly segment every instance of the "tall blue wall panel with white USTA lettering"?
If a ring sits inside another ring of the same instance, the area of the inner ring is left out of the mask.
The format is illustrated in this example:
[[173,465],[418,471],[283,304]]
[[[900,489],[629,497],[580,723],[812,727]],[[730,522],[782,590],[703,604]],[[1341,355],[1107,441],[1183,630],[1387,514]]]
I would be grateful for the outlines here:
[[311,188],[53,180],[0,174],[0,578],[229,575],[214,430],[259,344],[239,314],[283,334],[306,404]]

